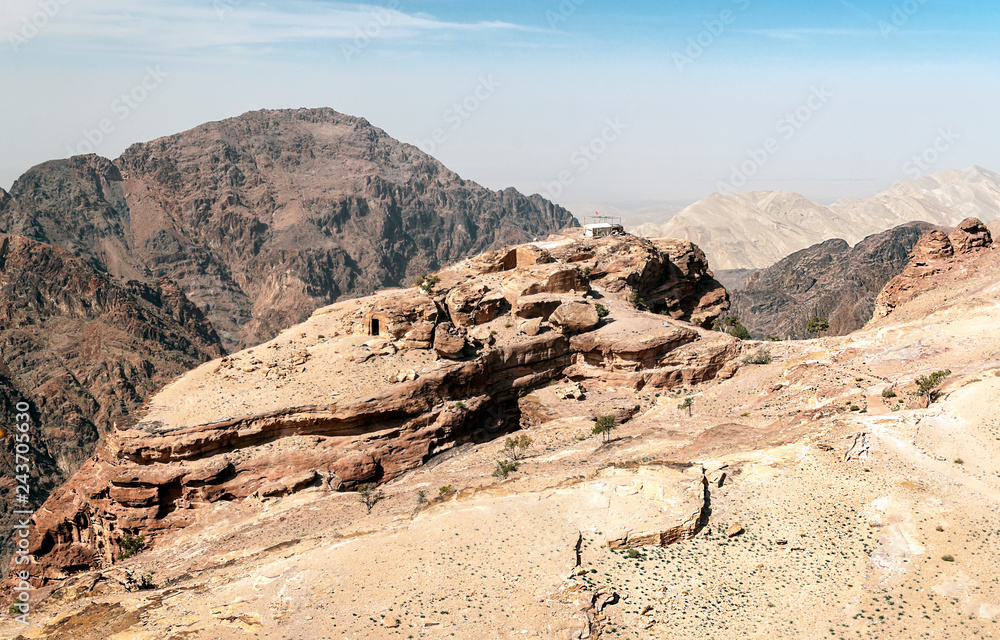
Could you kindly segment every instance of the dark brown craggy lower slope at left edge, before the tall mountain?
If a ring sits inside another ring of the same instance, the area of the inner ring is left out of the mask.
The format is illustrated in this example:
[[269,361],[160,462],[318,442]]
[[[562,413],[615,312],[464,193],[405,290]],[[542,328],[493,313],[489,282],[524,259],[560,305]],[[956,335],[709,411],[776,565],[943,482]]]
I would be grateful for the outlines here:
[[0,237],[0,557],[10,552],[16,403],[32,407],[37,507],[154,391],[221,353],[173,282],[117,282],[61,249]]

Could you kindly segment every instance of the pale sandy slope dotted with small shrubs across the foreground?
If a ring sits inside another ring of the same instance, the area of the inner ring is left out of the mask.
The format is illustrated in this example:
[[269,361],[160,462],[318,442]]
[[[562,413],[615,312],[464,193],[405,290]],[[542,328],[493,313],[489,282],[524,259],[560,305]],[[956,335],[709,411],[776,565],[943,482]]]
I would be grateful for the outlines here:
[[[507,480],[492,476],[507,455],[499,440],[458,446],[397,476],[370,513],[356,494],[289,477],[283,490],[186,510],[186,527],[152,550],[36,592],[31,626],[5,621],[0,634],[995,636],[998,269],[996,249],[967,256],[939,287],[873,326],[764,345],[774,361],[744,365],[731,379],[636,385],[637,361],[616,355],[653,334],[619,336],[606,359],[588,357],[569,378],[521,398],[534,442]],[[632,313],[607,300],[613,319]],[[278,342],[301,341],[314,357],[341,350],[349,379],[363,380],[346,360],[355,347],[319,342],[339,314],[317,314]],[[508,349],[498,326],[498,349]],[[215,391],[211,373],[198,373],[200,393],[223,403],[213,411],[241,411],[224,385],[273,384],[262,372],[269,350],[254,351],[214,374],[222,376]],[[419,376],[435,366],[421,364]],[[952,374],[922,409],[913,380],[940,369]],[[284,384],[320,383],[308,370],[288,375]],[[248,401],[268,394],[259,395]],[[685,397],[694,398],[691,415],[678,409]],[[448,404],[450,412],[479,406]],[[157,411],[169,415],[166,405]],[[591,429],[608,413],[631,419],[605,443]],[[290,431],[253,455],[301,459],[327,444]],[[127,474],[116,482],[127,487]],[[146,573],[155,585],[137,590]]]

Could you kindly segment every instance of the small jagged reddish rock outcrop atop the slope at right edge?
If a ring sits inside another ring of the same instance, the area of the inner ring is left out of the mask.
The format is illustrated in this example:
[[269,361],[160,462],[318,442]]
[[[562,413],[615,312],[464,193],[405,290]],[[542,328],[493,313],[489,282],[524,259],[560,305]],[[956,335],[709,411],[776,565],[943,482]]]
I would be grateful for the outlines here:
[[913,248],[909,264],[893,278],[875,302],[875,319],[885,318],[901,304],[935,286],[935,276],[961,266],[993,248],[989,229],[980,220],[963,220],[950,236],[931,231]]

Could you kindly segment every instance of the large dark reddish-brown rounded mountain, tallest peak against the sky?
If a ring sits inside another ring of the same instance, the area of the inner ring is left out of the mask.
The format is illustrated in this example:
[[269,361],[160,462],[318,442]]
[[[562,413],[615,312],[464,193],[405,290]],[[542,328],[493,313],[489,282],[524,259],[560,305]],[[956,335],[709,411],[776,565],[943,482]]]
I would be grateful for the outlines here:
[[114,161],[48,162],[0,198],[0,229],[114,277],[177,282],[229,350],[339,298],[575,224],[330,109],[252,112]]

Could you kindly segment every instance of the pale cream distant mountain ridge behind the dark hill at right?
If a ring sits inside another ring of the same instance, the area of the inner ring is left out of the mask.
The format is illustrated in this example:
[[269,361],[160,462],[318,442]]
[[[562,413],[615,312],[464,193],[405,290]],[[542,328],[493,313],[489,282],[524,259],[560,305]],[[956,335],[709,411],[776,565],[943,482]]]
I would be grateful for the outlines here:
[[826,240],[854,245],[908,222],[950,227],[968,217],[1000,217],[1000,175],[981,167],[949,171],[830,206],[784,191],[714,194],[665,224],[641,225],[635,232],[690,240],[713,269],[762,269]]

